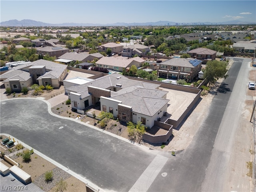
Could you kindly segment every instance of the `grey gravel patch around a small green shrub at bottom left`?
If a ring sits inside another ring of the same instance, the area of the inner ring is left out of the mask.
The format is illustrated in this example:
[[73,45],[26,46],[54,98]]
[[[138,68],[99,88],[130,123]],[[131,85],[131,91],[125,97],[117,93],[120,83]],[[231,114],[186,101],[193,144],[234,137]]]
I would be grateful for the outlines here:
[[53,178],[50,182],[46,182],[44,178],[44,174],[42,174],[38,178],[36,178],[36,180],[34,180],[34,184],[40,187],[42,190],[48,192],[50,189],[52,189],[56,185],[57,182],[61,180],[61,178],[63,180],[66,180],[69,177],[71,177],[70,174],[68,174],[67,172],[65,172],[64,170],[58,167],[52,170],[52,174],[53,174]]

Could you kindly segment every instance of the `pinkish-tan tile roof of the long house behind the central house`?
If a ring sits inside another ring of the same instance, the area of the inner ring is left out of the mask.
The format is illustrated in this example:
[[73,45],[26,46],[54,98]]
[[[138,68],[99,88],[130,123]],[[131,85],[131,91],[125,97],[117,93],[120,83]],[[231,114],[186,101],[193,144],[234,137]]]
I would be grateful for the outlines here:
[[145,60],[143,60],[140,57],[129,58],[129,57],[118,56],[118,57],[102,57],[95,64],[126,68],[132,61],[136,61],[139,63],[145,62]]

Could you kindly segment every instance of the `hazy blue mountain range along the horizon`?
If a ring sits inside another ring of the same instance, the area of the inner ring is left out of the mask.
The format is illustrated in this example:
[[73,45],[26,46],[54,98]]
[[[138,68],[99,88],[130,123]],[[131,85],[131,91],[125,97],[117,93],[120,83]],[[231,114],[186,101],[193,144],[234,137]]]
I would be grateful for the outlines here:
[[226,22],[191,22],[191,23],[177,23],[171,21],[158,21],[158,22],[145,22],[145,23],[111,23],[111,24],[93,24],[93,23],[61,23],[50,24],[40,21],[34,21],[30,19],[9,20],[0,23],[0,26],[177,26],[177,25],[236,25],[236,24],[256,24],[256,22],[244,22],[244,21],[226,21]]

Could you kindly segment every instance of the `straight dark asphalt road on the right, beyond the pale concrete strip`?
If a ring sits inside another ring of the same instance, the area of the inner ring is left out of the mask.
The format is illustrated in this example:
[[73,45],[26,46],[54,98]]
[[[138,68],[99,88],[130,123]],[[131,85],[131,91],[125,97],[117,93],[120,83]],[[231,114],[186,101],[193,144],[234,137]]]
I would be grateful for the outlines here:
[[[222,86],[216,92],[208,113],[202,120],[202,124],[190,146],[186,150],[179,152],[174,160],[168,160],[163,168],[168,175],[164,178],[157,177],[148,191],[218,191],[218,188],[204,190],[201,187],[206,177],[206,170],[210,163],[216,135],[241,64],[242,62],[235,62],[231,66],[228,78],[223,81]],[[221,161],[222,156],[219,156],[218,162],[221,163]],[[210,171],[215,172],[215,170]],[[160,188],[159,183],[163,183]]]

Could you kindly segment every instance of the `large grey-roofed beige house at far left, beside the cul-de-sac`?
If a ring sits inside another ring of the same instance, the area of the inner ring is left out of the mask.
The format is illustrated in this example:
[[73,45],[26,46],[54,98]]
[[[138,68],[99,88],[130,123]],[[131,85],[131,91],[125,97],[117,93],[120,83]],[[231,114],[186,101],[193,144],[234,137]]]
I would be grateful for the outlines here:
[[0,80],[4,82],[5,88],[11,88],[13,92],[32,84],[43,86],[49,84],[58,88],[67,72],[66,65],[40,59],[8,70],[1,75]]

